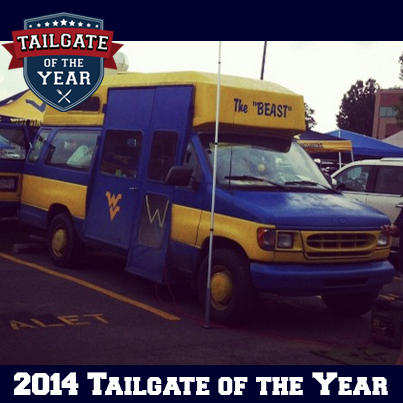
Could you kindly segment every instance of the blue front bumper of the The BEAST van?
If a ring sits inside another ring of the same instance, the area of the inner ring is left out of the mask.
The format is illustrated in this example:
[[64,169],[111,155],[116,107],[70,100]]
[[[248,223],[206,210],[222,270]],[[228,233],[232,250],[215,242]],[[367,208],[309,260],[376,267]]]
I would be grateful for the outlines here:
[[295,296],[379,290],[396,273],[388,261],[312,265],[251,262],[250,269],[258,291]]

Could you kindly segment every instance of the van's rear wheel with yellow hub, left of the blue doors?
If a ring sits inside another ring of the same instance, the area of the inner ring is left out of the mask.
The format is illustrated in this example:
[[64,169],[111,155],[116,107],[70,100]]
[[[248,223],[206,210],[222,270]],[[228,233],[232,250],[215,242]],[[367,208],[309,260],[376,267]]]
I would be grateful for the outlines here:
[[80,241],[68,214],[58,214],[51,221],[47,246],[50,258],[56,266],[68,267],[76,262],[81,249]]

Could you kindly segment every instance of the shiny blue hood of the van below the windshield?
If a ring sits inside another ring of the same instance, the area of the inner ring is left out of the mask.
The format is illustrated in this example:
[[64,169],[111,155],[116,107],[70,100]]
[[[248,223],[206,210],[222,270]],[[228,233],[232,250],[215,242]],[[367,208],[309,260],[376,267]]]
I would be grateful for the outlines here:
[[390,222],[380,211],[342,194],[240,190],[230,194],[237,216],[279,229],[374,230]]

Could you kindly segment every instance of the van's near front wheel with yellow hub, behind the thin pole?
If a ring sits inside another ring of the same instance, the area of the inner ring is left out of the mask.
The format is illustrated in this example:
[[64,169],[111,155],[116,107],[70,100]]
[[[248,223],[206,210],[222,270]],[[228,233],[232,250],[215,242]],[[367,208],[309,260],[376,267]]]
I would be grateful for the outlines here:
[[[197,279],[200,303],[206,305],[208,256]],[[256,303],[249,262],[238,252],[217,249],[213,252],[210,281],[210,314],[213,320],[234,323],[245,319]]]

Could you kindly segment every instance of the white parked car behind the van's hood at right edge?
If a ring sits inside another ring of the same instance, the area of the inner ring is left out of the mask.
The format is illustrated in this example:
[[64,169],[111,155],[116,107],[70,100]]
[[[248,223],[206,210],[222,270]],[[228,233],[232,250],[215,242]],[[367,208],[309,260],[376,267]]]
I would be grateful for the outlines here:
[[[382,211],[392,223],[403,207],[403,158],[351,162],[332,178],[343,194]],[[396,254],[398,247],[399,238],[394,238],[392,253]]]

